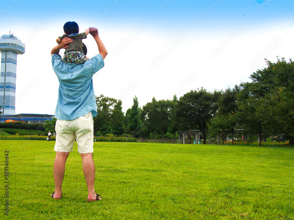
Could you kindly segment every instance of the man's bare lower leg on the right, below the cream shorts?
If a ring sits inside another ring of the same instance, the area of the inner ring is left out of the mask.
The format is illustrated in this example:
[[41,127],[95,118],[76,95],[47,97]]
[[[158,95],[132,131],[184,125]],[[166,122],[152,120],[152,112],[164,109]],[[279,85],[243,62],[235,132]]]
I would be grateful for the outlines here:
[[80,153],[82,158],[83,173],[86,179],[88,188],[88,199],[96,199],[94,189],[95,184],[95,165],[93,160],[93,153]]

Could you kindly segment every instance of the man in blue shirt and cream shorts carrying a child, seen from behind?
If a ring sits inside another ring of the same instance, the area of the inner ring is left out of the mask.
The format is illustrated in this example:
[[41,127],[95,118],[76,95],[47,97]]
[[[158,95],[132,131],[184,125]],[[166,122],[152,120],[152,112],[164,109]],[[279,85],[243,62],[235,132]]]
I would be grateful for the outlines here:
[[52,67],[59,80],[58,101],[55,110],[57,118],[55,131],[56,157],[53,166],[55,190],[54,199],[62,196],[62,181],[66,159],[73,151],[76,139],[78,152],[81,155],[83,174],[88,188],[87,202],[101,200],[95,192],[95,165],[93,161],[93,116],[97,115],[96,99],[93,89],[93,74],[104,67],[107,55],[97,28],[89,28],[90,34],[97,43],[99,54],[83,64],[65,63],[59,55],[60,49],[66,49],[72,42],[64,38],[51,50]]

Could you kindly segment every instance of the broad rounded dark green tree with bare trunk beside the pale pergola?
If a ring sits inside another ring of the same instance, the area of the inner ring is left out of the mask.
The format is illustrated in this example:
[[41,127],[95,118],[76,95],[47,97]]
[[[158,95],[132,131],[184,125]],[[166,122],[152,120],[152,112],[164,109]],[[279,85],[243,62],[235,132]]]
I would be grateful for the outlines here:
[[198,128],[203,135],[203,144],[206,144],[207,125],[217,110],[218,93],[212,94],[201,88],[184,94],[178,101],[176,114],[189,128]]

